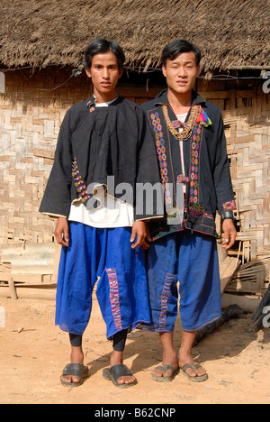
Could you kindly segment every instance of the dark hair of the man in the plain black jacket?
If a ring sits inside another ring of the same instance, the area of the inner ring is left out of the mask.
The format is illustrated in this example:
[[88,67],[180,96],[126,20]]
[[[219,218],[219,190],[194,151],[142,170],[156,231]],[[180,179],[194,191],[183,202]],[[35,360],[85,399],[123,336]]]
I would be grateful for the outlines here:
[[125,54],[120,45],[115,41],[107,41],[104,38],[98,38],[90,42],[85,48],[85,69],[90,69],[94,54],[106,53],[112,51],[117,59],[119,70],[123,68],[125,62]]

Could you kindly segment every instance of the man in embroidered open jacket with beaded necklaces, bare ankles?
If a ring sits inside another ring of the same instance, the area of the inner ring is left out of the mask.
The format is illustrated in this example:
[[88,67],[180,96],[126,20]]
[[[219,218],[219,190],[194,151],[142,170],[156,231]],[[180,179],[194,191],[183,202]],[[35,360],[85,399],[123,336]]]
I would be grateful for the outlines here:
[[[215,216],[220,213],[224,242],[236,238],[236,208],[229,174],[220,110],[193,87],[201,52],[189,41],[175,40],[162,53],[167,89],[142,105],[148,115],[164,188],[165,217],[149,222],[148,289],[151,324],[159,332],[163,364],[151,372],[156,381],[171,381],[179,370],[191,381],[208,375],[194,364],[196,331],[220,317],[220,274]],[[182,342],[173,346],[179,281]]]

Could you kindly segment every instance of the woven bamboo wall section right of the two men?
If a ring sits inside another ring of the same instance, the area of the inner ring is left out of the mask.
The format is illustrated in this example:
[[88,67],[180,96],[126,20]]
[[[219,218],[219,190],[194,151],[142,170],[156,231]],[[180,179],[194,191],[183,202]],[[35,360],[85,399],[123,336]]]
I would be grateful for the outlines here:
[[230,290],[264,292],[270,269],[270,107],[261,87],[202,92],[220,106],[236,194],[238,237],[235,251],[243,266]]

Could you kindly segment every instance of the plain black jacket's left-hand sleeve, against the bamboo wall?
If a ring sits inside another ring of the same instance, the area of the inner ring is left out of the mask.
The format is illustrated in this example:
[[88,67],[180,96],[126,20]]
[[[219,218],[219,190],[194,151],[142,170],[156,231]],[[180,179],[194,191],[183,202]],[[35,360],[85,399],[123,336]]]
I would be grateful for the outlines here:
[[69,215],[73,162],[71,136],[68,110],[60,127],[55,160],[40,204],[40,212],[49,216]]

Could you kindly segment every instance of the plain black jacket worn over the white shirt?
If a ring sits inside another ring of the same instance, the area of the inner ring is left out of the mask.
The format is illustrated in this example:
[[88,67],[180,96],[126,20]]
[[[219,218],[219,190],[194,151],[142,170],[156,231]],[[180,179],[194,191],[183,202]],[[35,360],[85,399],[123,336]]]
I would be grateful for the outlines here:
[[86,207],[95,206],[90,201],[94,191],[87,187],[107,187],[108,176],[114,177],[108,191],[113,197],[124,197],[121,183],[130,187],[125,200],[134,206],[135,219],[163,216],[156,205],[150,211],[136,206],[143,185],[159,183],[157,153],[143,110],[121,96],[107,107],[96,108],[91,97],[67,111],[40,212],[68,216],[71,203],[77,199]]

